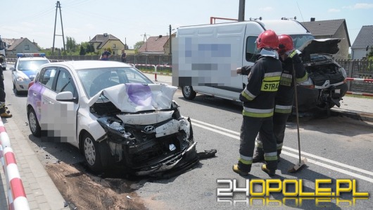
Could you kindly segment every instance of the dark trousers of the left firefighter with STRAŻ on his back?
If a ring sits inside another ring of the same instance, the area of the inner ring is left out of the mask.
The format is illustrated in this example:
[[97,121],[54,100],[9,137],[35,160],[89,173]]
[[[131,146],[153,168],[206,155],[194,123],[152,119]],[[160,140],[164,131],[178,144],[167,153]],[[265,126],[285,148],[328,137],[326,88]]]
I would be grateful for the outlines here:
[[258,132],[262,134],[265,161],[270,170],[277,169],[277,144],[273,134],[273,119],[252,118],[244,116],[241,125],[239,168],[241,171],[250,172],[253,163],[255,138]]

